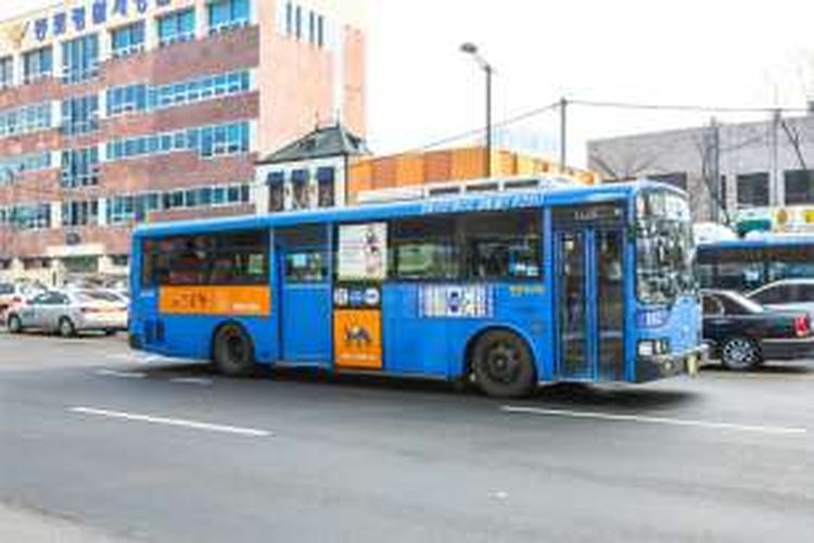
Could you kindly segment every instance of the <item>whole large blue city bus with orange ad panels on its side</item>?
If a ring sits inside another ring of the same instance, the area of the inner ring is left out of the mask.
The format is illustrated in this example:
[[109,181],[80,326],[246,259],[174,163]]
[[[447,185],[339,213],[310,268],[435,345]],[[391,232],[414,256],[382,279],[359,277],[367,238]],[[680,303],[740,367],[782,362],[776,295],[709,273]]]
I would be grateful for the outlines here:
[[139,227],[130,344],[476,383],[645,382],[703,353],[686,195],[638,181]]

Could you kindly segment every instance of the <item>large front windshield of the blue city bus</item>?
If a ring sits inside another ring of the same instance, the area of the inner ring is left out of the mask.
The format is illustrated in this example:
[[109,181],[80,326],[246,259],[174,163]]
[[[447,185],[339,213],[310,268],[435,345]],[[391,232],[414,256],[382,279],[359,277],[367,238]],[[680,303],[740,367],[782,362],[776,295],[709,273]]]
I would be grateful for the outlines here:
[[695,245],[687,199],[643,192],[636,202],[636,293],[645,303],[672,303],[697,290]]

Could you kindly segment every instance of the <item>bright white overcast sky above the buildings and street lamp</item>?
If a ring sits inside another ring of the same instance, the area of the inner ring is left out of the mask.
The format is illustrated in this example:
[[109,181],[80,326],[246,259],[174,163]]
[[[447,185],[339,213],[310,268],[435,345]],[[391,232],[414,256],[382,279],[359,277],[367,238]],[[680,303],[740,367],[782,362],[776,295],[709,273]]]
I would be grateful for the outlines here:
[[[341,1],[341,0],[336,0]],[[0,0],[0,18],[51,0]],[[569,100],[803,108],[814,97],[814,2],[801,0],[368,0],[368,140],[379,154],[480,129],[495,68],[496,123]],[[709,123],[711,112],[571,105],[568,162],[585,143]],[[500,146],[559,153],[557,110],[496,129]],[[765,114],[714,113],[720,122]],[[449,146],[483,138],[472,135]]]

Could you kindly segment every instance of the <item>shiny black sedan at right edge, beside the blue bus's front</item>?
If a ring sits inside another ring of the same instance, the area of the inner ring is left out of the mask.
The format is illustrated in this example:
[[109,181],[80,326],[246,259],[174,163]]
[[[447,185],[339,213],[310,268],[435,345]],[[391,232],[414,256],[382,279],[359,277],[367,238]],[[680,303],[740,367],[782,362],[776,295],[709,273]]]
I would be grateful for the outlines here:
[[763,361],[814,357],[814,332],[805,312],[768,310],[728,290],[707,290],[703,339],[711,357],[729,369],[749,369]]

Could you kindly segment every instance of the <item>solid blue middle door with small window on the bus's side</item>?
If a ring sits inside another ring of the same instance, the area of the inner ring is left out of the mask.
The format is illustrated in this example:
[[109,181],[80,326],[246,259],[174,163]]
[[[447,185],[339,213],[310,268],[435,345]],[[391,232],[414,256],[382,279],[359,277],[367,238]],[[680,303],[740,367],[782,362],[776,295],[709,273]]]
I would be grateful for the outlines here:
[[328,245],[296,233],[288,240],[284,232],[276,236],[280,361],[327,365],[331,361]]

